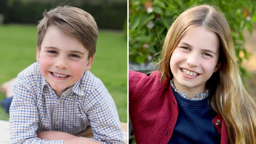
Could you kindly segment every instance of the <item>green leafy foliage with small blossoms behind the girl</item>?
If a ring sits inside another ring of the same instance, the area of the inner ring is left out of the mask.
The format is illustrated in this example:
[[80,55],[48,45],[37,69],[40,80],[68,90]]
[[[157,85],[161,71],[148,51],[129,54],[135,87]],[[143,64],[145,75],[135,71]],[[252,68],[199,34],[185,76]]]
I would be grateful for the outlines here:
[[[165,35],[174,20],[186,9],[199,4],[214,5],[225,15],[234,40],[237,62],[248,59],[244,30],[252,34],[254,0],[129,0],[129,61],[157,62]],[[245,69],[241,68],[243,74]]]

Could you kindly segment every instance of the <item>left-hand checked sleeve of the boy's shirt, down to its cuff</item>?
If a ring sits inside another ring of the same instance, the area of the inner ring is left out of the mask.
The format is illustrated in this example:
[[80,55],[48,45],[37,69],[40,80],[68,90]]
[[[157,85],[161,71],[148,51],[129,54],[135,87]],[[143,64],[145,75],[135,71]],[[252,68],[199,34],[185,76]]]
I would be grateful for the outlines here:
[[35,106],[35,93],[28,79],[17,77],[13,86],[10,107],[11,144],[62,144],[64,140],[41,140],[37,137],[39,116]]

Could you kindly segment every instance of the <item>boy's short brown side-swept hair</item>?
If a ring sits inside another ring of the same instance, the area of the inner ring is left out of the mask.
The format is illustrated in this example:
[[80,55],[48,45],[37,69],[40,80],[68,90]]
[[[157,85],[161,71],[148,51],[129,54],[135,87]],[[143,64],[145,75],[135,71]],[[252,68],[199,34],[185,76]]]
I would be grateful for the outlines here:
[[44,17],[37,25],[37,47],[41,49],[47,28],[54,25],[61,31],[77,38],[89,51],[88,58],[96,51],[98,37],[97,24],[91,14],[72,6],[59,6],[50,11],[44,11]]

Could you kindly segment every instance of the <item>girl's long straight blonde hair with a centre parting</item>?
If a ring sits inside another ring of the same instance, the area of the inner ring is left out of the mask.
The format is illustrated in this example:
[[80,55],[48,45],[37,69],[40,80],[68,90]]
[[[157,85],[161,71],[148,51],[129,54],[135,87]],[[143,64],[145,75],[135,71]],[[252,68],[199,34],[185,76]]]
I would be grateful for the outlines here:
[[213,6],[200,5],[185,10],[167,32],[158,63],[161,79],[172,79],[170,58],[182,35],[193,26],[214,31],[220,39],[220,70],[213,73],[206,85],[212,86],[210,104],[226,123],[229,142],[232,144],[256,143],[256,105],[246,92],[236,62],[233,39],[222,12]]

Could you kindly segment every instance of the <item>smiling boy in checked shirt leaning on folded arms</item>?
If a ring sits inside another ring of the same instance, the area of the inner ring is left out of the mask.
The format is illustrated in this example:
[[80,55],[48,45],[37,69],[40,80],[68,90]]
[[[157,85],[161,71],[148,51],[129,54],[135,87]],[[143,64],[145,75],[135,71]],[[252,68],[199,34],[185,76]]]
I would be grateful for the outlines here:
[[[98,35],[94,18],[57,7],[44,12],[37,34],[37,62],[13,86],[10,143],[124,143],[115,103],[89,72]],[[95,139],[75,136],[89,125]]]

